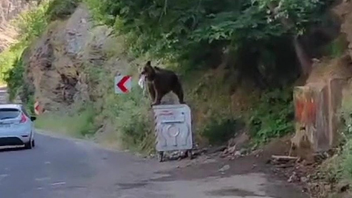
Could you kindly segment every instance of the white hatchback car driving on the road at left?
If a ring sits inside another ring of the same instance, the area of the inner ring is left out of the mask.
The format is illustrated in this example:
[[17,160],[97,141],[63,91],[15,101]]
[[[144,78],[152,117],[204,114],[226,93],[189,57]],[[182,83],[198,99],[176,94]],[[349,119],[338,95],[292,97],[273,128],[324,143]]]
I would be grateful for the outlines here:
[[33,121],[21,104],[0,104],[0,146],[35,146]]

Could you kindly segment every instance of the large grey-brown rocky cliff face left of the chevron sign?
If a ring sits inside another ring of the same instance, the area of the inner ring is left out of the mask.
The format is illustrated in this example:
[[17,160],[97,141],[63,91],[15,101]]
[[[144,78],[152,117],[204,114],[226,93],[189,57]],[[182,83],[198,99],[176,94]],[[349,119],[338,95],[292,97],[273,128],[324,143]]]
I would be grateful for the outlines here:
[[[92,27],[88,8],[79,6],[64,21],[54,21],[45,34],[24,53],[25,81],[22,101],[34,99],[47,111],[67,109],[75,101],[89,100],[85,64],[99,67],[106,61],[103,45],[109,30]],[[96,92],[90,87],[90,92]]]

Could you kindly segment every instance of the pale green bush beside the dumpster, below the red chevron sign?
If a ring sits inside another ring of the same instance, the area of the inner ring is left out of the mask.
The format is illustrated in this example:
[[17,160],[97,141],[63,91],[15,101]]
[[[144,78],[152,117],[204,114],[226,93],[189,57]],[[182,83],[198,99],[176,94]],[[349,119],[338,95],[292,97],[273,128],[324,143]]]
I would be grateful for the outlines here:
[[101,114],[113,123],[121,138],[119,142],[124,148],[151,152],[154,149],[155,136],[149,112],[150,101],[141,96],[142,92],[135,84],[129,94],[109,93]]

